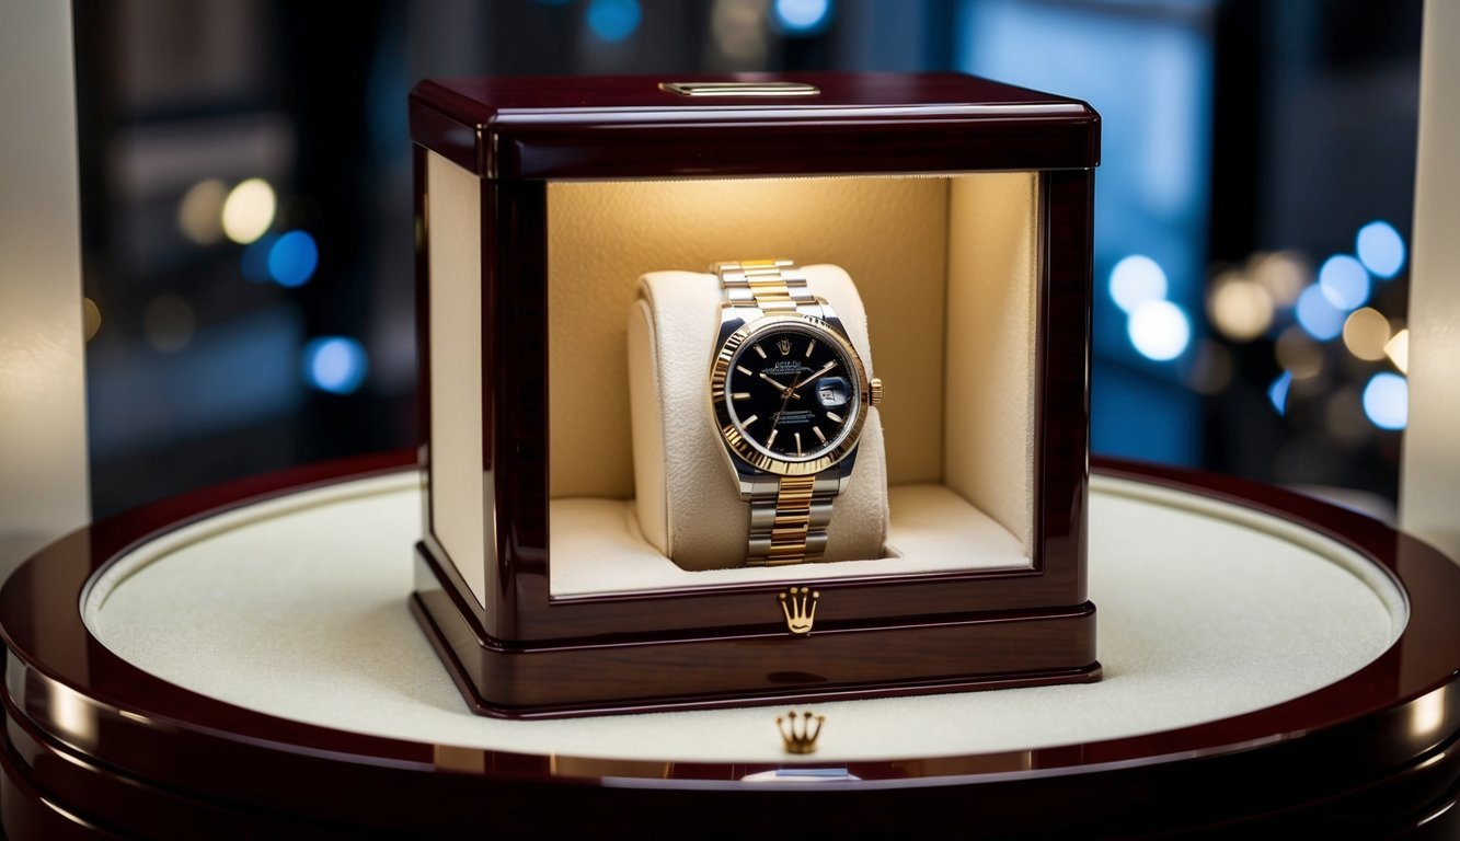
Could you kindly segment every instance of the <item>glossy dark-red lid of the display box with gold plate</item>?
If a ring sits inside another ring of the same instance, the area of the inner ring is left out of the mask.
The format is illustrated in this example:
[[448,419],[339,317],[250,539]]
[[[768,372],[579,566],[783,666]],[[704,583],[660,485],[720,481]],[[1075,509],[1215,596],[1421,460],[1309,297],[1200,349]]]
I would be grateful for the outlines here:
[[[672,89],[726,82],[752,88]],[[1099,115],[1085,102],[959,73],[428,79],[410,93],[410,136],[492,180],[1099,164]]]

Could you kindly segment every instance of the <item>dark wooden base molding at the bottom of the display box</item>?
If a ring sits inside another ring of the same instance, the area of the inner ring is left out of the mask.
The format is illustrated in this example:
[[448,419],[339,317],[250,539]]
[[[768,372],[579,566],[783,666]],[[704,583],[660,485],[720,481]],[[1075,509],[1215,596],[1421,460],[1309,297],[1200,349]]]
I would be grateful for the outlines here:
[[511,644],[486,637],[425,545],[410,612],[467,707],[559,718],[933,695],[1099,680],[1095,606],[632,641]]

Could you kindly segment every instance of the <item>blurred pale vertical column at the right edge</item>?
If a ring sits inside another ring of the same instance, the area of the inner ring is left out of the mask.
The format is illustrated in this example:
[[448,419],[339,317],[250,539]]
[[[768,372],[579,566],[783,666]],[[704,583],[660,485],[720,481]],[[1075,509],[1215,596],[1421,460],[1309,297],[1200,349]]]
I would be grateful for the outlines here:
[[1400,527],[1460,559],[1460,3],[1425,3]]

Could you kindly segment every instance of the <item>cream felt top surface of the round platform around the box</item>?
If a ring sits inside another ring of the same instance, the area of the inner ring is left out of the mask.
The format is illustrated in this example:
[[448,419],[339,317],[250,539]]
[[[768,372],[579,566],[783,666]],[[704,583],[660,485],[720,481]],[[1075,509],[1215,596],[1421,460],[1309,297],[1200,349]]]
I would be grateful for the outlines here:
[[[501,721],[467,711],[406,607],[415,473],[347,482],[147,542],[82,612],[123,658],[204,695],[342,730],[626,759],[781,762],[780,705]],[[1248,713],[1381,654],[1405,599],[1283,520],[1096,477],[1089,590],[1099,683],[816,705],[815,762],[1092,742]]]

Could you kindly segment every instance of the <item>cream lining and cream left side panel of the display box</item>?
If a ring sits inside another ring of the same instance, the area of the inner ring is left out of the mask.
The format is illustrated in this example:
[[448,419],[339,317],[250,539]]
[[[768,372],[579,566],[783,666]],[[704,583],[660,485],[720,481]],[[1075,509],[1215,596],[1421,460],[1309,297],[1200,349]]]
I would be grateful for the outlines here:
[[[464,288],[480,277],[474,234],[480,181],[431,155],[428,184],[432,515],[453,559],[482,558],[479,548],[491,545],[485,534],[491,482],[480,472],[480,437],[473,444],[461,432],[470,404],[480,404],[470,388],[480,383],[480,371],[464,362],[444,368],[453,365],[448,359],[480,347],[480,324],[467,323],[479,308],[463,315],[458,310],[470,304],[456,304],[474,301]],[[856,279],[877,375],[888,388],[879,413],[889,486],[943,488],[950,504],[962,501],[964,515],[990,521],[968,526],[955,518],[959,523],[949,524],[948,539],[934,542],[943,555],[926,561],[939,568],[1028,567],[1037,194],[1034,172],[549,184],[553,594],[591,593],[600,585],[618,590],[606,572],[616,562],[603,553],[607,546],[642,540],[632,530],[604,533],[587,520],[572,520],[572,511],[591,505],[564,505],[634,496],[625,312],[638,277],[654,270],[702,272],[717,260],[758,256],[832,263]],[[710,333],[717,315],[707,318]],[[463,390],[445,396],[450,390],[442,384],[457,381]],[[456,413],[460,407],[467,413]],[[911,553],[898,524],[907,520],[894,510],[888,537],[904,558]],[[1007,533],[1007,540],[978,550],[965,550],[958,540],[991,529]],[[955,552],[948,553],[949,548]],[[584,553],[569,555],[569,549]],[[460,572],[482,599],[482,564],[467,567]],[[685,585],[667,559],[661,585]]]

